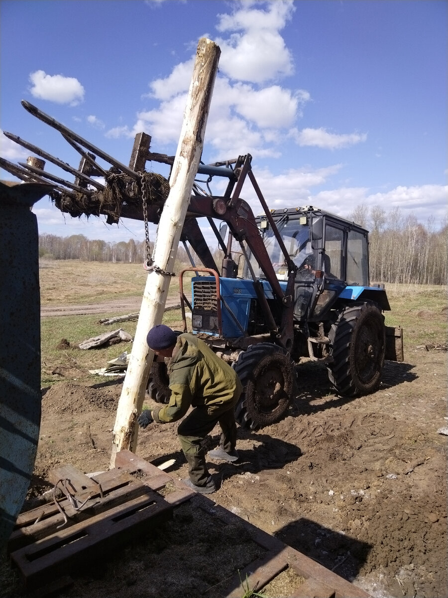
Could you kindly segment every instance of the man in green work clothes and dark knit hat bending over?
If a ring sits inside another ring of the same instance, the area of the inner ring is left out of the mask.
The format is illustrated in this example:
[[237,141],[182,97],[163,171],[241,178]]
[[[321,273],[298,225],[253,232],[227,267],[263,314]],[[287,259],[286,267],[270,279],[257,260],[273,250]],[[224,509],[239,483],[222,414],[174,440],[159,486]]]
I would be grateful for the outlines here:
[[146,428],[153,421],[176,422],[194,407],[177,428],[189,466],[189,479],[183,481],[201,494],[210,494],[216,486],[205,464],[202,441],[219,423],[220,446],[209,456],[226,461],[238,459],[235,405],[242,390],[240,379],[230,365],[193,334],[177,335],[168,326],[158,324],[148,332],[146,341],[155,355],[170,358],[167,368],[171,397],[166,405],[142,411],[137,418],[139,425]]

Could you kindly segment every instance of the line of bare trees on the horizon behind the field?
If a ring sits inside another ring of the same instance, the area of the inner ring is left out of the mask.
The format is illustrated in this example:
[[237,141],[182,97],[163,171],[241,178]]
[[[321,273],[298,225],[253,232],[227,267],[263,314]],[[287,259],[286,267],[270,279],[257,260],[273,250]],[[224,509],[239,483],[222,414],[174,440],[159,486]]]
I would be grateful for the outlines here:
[[[435,230],[434,221],[422,225],[412,214],[403,216],[395,208],[386,213],[379,206],[357,206],[349,219],[369,233],[370,280],[384,283],[446,285],[448,281],[448,222]],[[150,243],[150,255],[153,245]],[[222,255],[211,249],[217,264]],[[194,254],[194,252],[192,252]],[[145,241],[130,239],[118,243],[90,240],[82,234],[58,237],[39,235],[39,257],[54,260],[143,263]],[[195,257],[195,255],[194,255]],[[185,249],[179,246],[177,259],[188,264]]]

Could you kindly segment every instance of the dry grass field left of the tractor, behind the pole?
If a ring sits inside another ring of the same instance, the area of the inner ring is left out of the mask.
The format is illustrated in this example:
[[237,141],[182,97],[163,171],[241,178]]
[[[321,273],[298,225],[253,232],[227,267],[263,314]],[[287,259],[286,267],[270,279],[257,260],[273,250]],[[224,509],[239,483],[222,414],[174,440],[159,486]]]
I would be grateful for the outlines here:
[[[148,274],[142,264],[112,264],[103,262],[81,262],[78,260],[51,261],[39,263],[41,305],[70,305],[103,303],[127,297],[142,297]],[[178,297],[179,279],[173,277],[168,296]],[[125,315],[124,312],[123,315]],[[113,314],[115,315],[115,314]],[[98,376],[88,370],[99,370],[110,359],[122,352],[131,352],[132,343],[122,342],[110,347],[81,350],[77,345],[83,340],[99,336],[104,332],[122,328],[134,336],[137,321],[102,325],[99,320],[111,313],[85,316],[57,316],[41,319],[42,386],[48,386],[61,379],[60,374],[52,374],[59,368],[80,370],[78,382],[93,383]],[[180,329],[180,310],[167,312],[164,324]],[[62,339],[70,343],[70,348],[58,349]]]

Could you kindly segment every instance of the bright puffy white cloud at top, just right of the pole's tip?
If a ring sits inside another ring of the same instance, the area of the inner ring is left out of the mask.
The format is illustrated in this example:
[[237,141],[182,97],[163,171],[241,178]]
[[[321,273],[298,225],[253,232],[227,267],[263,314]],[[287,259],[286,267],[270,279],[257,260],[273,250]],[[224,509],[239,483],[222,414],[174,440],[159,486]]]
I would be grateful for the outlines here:
[[217,38],[221,48],[220,69],[231,79],[263,83],[291,75],[293,59],[280,30],[295,10],[291,0],[269,2],[267,10],[259,4],[237,4],[232,14],[220,14],[217,30],[231,33],[228,39]]

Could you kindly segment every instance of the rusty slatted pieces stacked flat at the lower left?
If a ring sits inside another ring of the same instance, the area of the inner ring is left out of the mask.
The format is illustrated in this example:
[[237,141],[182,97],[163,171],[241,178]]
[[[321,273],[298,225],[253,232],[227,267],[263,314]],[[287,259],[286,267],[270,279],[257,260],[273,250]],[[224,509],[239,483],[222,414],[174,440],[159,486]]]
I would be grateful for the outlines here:
[[176,505],[195,495],[179,483],[166,496],[155,492],[174,481],[154,465],[151,468],[155,471],[149,485],[119,469],[94,478],[71,465],[51,471],[53,483],[68,480],[65,485],[72,500],[65,498],[19,515],[8,551],[25,585],[38,587],[50,576],[66,575],[121,547],[170,518]]

